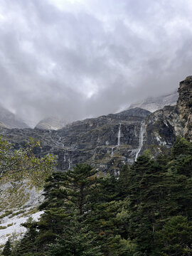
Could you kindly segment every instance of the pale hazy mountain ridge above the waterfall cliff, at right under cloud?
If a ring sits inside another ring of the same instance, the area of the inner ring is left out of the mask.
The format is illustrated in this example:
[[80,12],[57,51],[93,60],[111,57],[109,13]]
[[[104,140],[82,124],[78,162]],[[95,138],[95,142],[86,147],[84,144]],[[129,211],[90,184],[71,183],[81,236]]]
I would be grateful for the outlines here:
[[155,112],[156,110],[162,109],[167,105],[176,105],[176,101],[178,100],[178,92],[172,92],[168,95],[162,95],[159,97],[149,97],[142,102],[137,102],[130,105],[129,109],[134,107],[140,107],[144,110],[149,110],[150,112]]

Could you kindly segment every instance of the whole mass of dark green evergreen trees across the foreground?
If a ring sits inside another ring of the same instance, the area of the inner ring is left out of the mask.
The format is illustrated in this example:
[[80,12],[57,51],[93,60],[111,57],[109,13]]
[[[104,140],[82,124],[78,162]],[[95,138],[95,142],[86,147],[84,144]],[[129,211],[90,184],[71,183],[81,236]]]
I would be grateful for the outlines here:
[[53,173],[44,213],[19,242],[19,255],[191,255],[191,149],[178,138],[171,156],[139,156],[119,179],[86,164]]

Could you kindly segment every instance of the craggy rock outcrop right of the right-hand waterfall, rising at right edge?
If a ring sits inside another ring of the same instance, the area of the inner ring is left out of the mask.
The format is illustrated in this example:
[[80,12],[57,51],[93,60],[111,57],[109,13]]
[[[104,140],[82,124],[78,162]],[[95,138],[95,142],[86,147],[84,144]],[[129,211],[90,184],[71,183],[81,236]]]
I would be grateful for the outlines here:
[[180,82],[178,93],[176,106],[166,106],[146,117],[142,151],[166,151],[177,136],[192,141],[192,76]]

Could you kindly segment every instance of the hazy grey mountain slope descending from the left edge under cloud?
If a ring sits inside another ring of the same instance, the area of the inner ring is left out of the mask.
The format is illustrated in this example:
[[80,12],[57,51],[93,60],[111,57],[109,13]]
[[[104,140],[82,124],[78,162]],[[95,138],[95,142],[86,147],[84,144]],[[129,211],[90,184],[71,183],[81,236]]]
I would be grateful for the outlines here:
[[[0,105],[0,122],[3,126],[7,128],[28,128],[28,125],[23,122],[19,117],[17,117],[15,114],[10,112],[9,110],[6,110],[4,107]],[[0,124],[1,126],[1,124]]]

